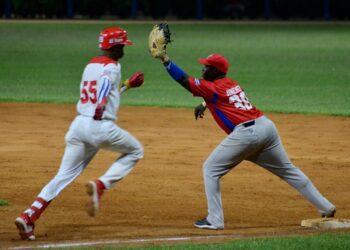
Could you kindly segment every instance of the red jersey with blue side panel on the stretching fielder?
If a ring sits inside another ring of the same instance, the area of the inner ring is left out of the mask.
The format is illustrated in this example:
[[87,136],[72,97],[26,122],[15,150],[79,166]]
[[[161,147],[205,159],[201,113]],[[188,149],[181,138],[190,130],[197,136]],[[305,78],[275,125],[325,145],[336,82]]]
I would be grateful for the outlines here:
[[204,98],[215,121],[227,134],[238,124],[263,115],[262,111],[249,103],[237,82],[230,78],[210,82],[189,77],[189,83],[192,94]]

